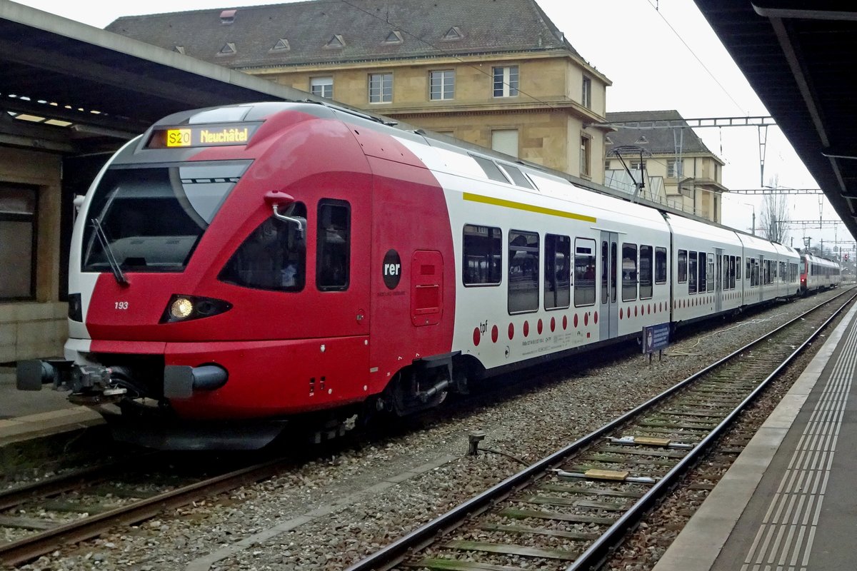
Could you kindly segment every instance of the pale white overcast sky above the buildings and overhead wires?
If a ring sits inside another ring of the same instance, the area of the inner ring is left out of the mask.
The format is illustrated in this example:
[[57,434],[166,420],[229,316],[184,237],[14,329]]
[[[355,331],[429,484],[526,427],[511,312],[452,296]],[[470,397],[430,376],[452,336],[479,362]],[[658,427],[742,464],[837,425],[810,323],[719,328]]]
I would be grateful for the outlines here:
[[[466,2],[466,0],[463,0]],[[711,31],[692,0],[536,0],[566,34],[578,53],[605,74],[613,86],[607,110],[678,110],[686,119],[767,116],[768,111],[747,84],[732,58]],[[218,0],[123,0],[111,3],[71,3],[68,0],[19,0],[19,3],[105,27],[123,15],[158,14],[191,9],[238,8],[270,3]],[[406,27],[406,26],[403,26]],[[698,128],[711,152],[722,158],[723,184],[728,188],[758,188],[774,181],[780,187],[817,188],[776,127],[767,129],[764,179],[760,172],[758,128]],[[749,230],[752,211],[761,211],[761,197],[725,196],[723,223]],[[838,220],[827,199],[821,217]],[[818,219],[816,195],[789,196],[792,220]],[[833,241],[833,229],[790,230],[794,246],[804,235],[812,244]],[[843,225],[836,237],[853,240]]]

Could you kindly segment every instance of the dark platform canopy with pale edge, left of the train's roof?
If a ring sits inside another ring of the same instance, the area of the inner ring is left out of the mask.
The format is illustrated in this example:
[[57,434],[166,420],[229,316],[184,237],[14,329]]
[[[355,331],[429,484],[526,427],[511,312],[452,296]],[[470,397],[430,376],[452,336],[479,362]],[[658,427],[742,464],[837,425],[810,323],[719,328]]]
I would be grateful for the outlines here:
[[104,152],[175,111],[318,100],[41,10],[0,2],[0,145]]

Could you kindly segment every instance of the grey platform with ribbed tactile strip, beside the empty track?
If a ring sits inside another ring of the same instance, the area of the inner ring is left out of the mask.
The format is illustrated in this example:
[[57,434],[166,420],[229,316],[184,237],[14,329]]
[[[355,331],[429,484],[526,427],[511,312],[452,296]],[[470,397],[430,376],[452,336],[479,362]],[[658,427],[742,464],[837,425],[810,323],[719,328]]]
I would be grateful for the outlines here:
[[854,568],[857,306],[654,571]]

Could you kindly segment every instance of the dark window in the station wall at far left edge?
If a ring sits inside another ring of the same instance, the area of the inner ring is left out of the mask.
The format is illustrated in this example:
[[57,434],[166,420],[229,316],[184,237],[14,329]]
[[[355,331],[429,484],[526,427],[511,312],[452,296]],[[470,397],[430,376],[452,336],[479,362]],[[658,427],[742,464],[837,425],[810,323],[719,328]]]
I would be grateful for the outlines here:
[[34,187],[0,184],[0,300],[36,295],[36,205]]

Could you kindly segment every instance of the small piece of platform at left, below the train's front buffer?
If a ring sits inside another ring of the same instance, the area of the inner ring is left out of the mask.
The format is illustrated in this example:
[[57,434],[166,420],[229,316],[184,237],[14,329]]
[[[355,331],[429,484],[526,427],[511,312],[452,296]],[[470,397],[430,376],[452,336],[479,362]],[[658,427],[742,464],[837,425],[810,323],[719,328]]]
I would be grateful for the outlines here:
[[0,366],[0,447],[104,424],[99,413],[71,404],[67,396],[50,386],[17,390],[15,368]]

